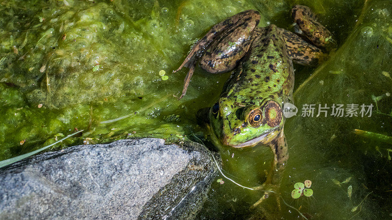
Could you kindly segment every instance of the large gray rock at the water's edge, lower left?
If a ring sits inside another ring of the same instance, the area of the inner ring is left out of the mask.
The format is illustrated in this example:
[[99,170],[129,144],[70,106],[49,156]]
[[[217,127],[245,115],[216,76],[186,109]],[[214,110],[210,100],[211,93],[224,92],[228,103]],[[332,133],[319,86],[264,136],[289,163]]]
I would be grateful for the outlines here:
[[217,168],[202,145],[120,140],[0,169],[0,219],[190,219]]

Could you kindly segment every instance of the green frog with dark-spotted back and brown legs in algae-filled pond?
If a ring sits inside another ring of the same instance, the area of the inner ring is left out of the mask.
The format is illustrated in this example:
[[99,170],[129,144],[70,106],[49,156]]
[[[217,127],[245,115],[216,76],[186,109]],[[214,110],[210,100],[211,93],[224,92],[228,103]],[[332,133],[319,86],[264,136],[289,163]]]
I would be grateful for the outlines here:
[[291,12],[296,33],[273,24],[257,27],[260,14],[255,10],[214,25],[174,71],[189,68],[182,98],[197,62],[210,73],[235,69],[219,100],[211,108],[199,110],[197,118],[222,145],[245,148],[262,144],[271,148],[274,158],[263,186],[279,184],[289,157],[283,105],[292,102],[293,62],[316,66],[336,47],[331,32],[317,22],[309,7],[295,5]]

